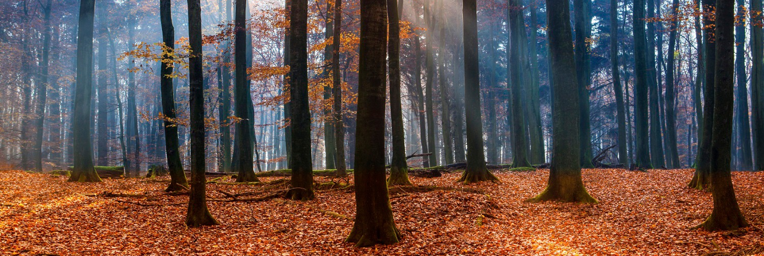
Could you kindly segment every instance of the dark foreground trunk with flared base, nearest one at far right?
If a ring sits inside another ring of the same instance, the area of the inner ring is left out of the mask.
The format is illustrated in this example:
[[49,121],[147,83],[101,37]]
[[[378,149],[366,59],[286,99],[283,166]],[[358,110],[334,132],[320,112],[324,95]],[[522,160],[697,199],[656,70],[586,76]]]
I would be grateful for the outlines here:
[[[698,225],[707,231],[745,228],[748,222],[737,205],[730,173],[730,141],[732,139],[734,108],[734,27],[735,4],[720,0],[716,5],[716,58],[714,73],[714,125],[711,130],[711,192],[714,211]],[[709,72],[710,73],[710,72]],[[708,117],[708,115],[706,115]],[[707,118],[708,119],[708,118]]]

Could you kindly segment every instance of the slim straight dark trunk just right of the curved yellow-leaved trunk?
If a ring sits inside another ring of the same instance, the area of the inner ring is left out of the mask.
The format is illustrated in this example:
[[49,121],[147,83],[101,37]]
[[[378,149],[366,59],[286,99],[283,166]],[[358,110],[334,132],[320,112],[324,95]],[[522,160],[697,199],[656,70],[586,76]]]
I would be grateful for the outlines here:
[[[167,1],[167,0],[162,0]],[[241,0],[238,0],[241,1]],[[237,1],[237,2],[238,2]],[[237,3],[238,4],[238,3]],[[186,225],[218,225],[207,209],[205,179],[204,89],[202,70],[202,8],[188,0],[189,12],[189,128],[191,137],[191,193]],[[238,70],[238,69],[237,69]],[[238,81],[238,79],[237,79]],[[251,159],[251,158],[250,158]]]

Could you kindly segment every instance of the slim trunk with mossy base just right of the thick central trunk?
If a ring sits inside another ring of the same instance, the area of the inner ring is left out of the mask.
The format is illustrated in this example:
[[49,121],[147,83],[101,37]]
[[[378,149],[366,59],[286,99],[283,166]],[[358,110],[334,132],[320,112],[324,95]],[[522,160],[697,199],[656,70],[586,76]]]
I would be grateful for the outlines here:
[[[390,61],[390,117],[393,125],[393,159],[387,185],[411,185],[406,164],[406,134],[403,131],[403,105],[400,101],[400,24],[396,0],[387,0],[387,18],[390,22],[387,58]],[[356,147],[358,148],[358,147]]]

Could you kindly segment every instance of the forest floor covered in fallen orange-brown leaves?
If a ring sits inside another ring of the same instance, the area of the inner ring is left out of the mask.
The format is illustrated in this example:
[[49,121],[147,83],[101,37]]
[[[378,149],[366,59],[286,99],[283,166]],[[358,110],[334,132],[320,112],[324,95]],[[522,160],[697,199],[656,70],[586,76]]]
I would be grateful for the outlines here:
[[[733,173],[738,202],[753,224],[738,232],[690,229],[712,209],[710,193],[685,186],[692,170],[584,170],[584,184],[599,200],[594,205],[523,203],[544,190],[549,171],[494,173],[501,183],[465,186],[454,182],[458,173],[413,177],[419,186],[456,190],[391,190],[402,240],[354,248],[344,242],[355,212],[348,190],[319,190],[309,202],[209,202],[221,225],[187,228],[188,198],[163,193],[166,179],[68,183],[0,171],[0,254],[701,255],[764,248],[764,172]],[[207,192],[225,199],[262,187],[209,183]]]

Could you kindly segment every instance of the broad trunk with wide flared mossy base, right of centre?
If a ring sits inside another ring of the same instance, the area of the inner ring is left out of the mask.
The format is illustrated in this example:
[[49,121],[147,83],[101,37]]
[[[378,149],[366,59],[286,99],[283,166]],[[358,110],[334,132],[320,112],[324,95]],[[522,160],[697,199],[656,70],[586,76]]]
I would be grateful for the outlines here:
[[[516,0],[514,0],[516,1]],[[639,1],[639,0],[636,0]],[[639,6],[639,5],[637,5]],[[546,17],[549,23],[549,53],[552,57],[552,167],[546,189],[529,202],[555,200],[561,202],[597,203],[589,196],[581,181],[581,153],[578,145],[578,97],[579,92],[573,40],[571,38],[570,12],[567,1],[546,1]]]

